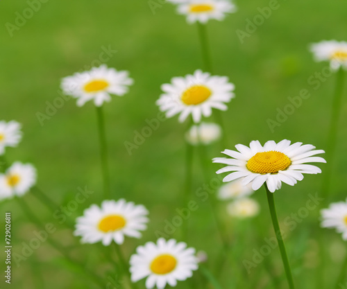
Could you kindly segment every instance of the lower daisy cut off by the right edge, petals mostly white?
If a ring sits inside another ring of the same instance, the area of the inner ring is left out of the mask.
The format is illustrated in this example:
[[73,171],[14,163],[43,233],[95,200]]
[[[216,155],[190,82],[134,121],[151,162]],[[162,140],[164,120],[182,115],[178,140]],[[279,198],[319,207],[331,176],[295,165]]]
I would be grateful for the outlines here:
[[323,228],[335,228],[347,240],[347,200],[330,204],[328,209],[321,210],[321,215]]

